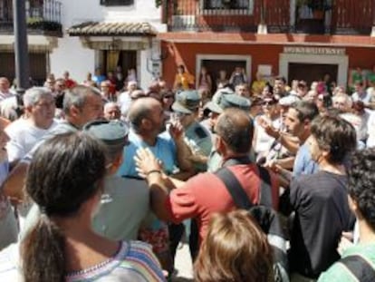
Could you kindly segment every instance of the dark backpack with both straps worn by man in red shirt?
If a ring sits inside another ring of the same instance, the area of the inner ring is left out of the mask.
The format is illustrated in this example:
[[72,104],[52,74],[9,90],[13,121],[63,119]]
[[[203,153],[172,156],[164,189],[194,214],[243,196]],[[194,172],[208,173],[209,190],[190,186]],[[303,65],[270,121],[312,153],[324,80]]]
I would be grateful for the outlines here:
[[[246,160],[247,159],[247,160]],[[236,176],[227,167],[236,164],[250,163],[248,158],[226,160],[216,176],[223,181],[226,189],[232,196],[238,209],[246,209],[257,221],[258,225],[267,235],[268,242],[274,250],[274,281],[289,282],[288,257],[286,252],[286,238],[280,222],[279,215],[272,208],[272,185],[268,170],[257,166],[260,173],[259,204],[254,205],[248,199]]]

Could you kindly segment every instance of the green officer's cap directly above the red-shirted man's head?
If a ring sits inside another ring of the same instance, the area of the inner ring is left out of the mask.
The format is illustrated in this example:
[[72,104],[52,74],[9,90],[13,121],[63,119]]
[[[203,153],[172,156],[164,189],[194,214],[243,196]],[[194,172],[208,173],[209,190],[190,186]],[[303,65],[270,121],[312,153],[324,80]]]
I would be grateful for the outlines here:
[[225,94],[221,95],[217,102],[207,102],[205,109],[211,112],[221,113],[227,108],[237,108],[244,111],[249,111],[251,102],[237,94]]

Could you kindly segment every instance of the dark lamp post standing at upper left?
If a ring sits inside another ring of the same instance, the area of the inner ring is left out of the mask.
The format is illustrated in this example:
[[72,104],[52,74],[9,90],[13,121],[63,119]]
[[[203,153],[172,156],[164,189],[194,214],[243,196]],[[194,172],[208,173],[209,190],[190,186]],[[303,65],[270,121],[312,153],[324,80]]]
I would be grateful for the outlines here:
[[13,0],[14,58],[17,93],[29,88],[29,54],[27,49],[26,7],[24,0]]

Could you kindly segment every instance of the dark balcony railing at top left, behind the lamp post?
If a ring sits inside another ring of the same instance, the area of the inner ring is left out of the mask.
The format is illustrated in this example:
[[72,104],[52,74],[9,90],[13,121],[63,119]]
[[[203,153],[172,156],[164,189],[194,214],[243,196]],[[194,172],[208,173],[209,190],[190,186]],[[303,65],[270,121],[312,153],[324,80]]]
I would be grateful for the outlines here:
[[[0,1],[0,33],[13,33],[12,0]],[[26,22],[28,33],[62,34],[62,3],[56,0],[28,0]]]

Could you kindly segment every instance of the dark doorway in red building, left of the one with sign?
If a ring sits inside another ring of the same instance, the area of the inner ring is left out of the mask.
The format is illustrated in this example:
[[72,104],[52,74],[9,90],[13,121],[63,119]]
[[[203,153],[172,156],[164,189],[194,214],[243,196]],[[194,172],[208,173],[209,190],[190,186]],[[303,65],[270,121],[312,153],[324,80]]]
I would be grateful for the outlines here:
[[[233,71],[236,67],[241,67],[246,69],[245,60],[202,60],[201,66],[206,66],[207,72],[212,78],[212,92],[216,92],[216,80],[218,79],[219,72],[226,71],[226,78],[229,80]],[[246,73],[248,74],[248,73]],[[199,73],[197,73],[197,76]]]

